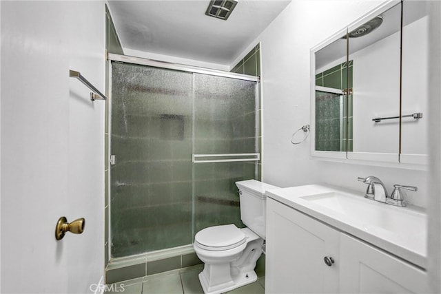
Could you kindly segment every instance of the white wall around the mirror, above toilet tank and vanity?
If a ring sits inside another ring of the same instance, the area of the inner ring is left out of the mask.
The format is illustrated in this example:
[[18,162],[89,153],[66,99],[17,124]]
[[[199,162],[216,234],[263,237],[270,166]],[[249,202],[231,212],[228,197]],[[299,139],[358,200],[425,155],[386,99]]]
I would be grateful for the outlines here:
[[280,187],[325,182],[364,193],[366,187],[357,177],[373,175],[382,179],[390,191],[397,183],[418,186],[420,190],[409,193],[408,201],[427,206],[424,171],[312,160],[309,139],[301,145],[289,143],[296,129],[310,123],[310,49],[382,3],[294,0],[251,43],[261,42],[263,180],[266,182]]

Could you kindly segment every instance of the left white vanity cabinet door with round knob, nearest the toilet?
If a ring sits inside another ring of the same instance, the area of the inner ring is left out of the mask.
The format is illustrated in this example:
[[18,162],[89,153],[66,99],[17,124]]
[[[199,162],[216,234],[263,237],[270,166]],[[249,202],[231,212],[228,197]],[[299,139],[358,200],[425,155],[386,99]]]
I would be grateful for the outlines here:
[[[266,293],[337,293],[340,233],[267,198]],[[325,257],[334,259],[327,266]]]

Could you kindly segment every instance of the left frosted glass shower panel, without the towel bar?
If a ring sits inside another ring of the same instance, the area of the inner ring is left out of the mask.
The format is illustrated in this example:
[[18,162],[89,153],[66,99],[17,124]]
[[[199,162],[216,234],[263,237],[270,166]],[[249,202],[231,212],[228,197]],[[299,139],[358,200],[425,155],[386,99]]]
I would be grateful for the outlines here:
[[192,80],[112,63],[112,258],[192,243]]

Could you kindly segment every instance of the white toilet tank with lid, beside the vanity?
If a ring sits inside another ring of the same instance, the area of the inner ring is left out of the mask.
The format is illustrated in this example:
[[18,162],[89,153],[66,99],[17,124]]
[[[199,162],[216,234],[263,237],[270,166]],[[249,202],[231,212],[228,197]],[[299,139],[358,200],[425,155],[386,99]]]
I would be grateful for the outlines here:
[[266,209],[265,191],[278,187],[259,182],[258,180],[242,180],[236,182],[240,198],[240,219],[260,238],[266,238]]

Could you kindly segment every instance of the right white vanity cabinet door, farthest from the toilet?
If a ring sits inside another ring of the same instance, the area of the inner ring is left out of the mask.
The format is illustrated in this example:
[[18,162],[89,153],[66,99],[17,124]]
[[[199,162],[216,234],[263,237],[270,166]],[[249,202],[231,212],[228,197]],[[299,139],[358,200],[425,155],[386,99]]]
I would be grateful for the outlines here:
[[342,233],[342,293],[428,293],[427,274],[389,253]]

